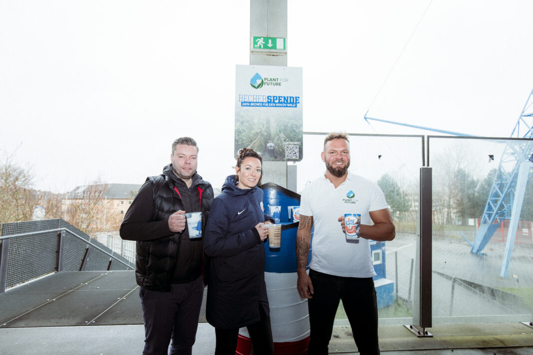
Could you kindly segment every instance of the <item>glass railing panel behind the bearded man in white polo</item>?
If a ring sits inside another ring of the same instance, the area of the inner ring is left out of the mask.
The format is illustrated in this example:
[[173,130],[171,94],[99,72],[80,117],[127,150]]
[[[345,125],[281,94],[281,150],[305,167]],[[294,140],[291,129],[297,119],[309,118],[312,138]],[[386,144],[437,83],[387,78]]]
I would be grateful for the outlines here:
[[[304,135],[304,155],[297,163],[298,192],[326,171],[320,153],[326,135]],[[368,178],[383,190],[391,207],[396,237],[371,245],[378,294],[379,324],[406,324],[413,318],[419,168],[423,136],[350,135],[353,174]],[[381,298],[381,299],[380,299]],[[339,306],[336,325],[348,325]]]

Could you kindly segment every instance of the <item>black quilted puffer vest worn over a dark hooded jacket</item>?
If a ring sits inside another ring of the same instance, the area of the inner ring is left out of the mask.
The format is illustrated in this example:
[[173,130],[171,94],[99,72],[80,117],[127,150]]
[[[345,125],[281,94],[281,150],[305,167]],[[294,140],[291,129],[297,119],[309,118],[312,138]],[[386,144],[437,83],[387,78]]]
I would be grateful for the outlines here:
[[[175,190],[175,182],[169,176],[173,174],[172,167],[166,166],[163,174],[147,178],[152,184],[154,193],[154,212],[151,221],[160,221],[178,210],[183,210],[179,193]],[[199,189],[202,209],[202,230],[205,230],[209,208],[213,201],[211,184],[195,174],[192,188]],[[153,291],[169,292],[176,268],[182,232],[151,241],[138,241],[136,247],[137,284]],[[203,243],[202,243],[203,244]],[[202,245],[199,245],[201,247]]]

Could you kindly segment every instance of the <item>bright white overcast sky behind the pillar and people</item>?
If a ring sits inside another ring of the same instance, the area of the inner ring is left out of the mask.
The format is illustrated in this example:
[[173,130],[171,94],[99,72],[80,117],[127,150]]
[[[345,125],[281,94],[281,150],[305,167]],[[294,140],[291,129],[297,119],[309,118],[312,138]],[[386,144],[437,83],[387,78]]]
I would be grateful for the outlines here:
[[[510,136],[533,88],[531,14],[530,0],[288,0],[304,131],[427,134],[371,126],[368,110]],[[248,63],[248,0],[2,0],[0,150],[35,187],[66,192],[141,184],[191,136],[199,174],[220,187],[235,163],[235,65]]]

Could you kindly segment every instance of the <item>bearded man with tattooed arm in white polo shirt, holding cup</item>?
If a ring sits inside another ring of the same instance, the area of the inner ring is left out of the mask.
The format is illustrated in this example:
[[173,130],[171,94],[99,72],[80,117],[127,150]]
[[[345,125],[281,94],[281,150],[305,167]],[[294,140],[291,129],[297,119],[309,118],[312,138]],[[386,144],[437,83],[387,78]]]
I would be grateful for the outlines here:
[[[333,322],[342,300],[361,355],[379,354],[377,300],[368,240],[391,241],[394,224],[383,192],[372,181],[354,175],[350,143],[343,133],[324,140],[324,176],[305,186],[296,236],[298,293],[307,298],[311,335],[309,355],[328,353]],[[344,234],[344,214],[359,213],[357,242]],[[373,222],[373,225],[371,225]],[[309,275],[305,271],[314,226]]]

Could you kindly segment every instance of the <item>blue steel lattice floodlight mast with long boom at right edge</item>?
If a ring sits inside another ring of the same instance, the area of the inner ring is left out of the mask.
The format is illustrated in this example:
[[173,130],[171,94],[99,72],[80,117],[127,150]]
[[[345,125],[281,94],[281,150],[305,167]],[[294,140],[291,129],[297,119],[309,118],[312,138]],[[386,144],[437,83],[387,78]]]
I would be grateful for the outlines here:
[[[475,137],[463,133],[451,132],[441,129],[433,129],[407,123],[386,121],[377,118],[367,117],[365,120],[375,120],[394,125],[407,126],[425,130],[437,131],[455,136]],[[522,131],[522,134],[520,133]],[[494,232],[502,224],[503,220],[510,220],[505,244],[504,260],[500,276],[507,277],[507,269],[511,260],[511,252],[516,238],[516,230],[522,211],[524,194],[528,182],[529,171],[533,169],[533,90],[529,94],[528,100],[516,121],[516,125],[511,133],[511,138],[528,138],[530,141],[510,141],[506,146],[500,160],[494,183],[490,189],[490,194],[481,217],[481,224],[475,236],[474,243],[471,244],[471,252],[481,254]],[[511,169],[507,169],[511,168]],[[470,243],[470,242],[469,242]]]

